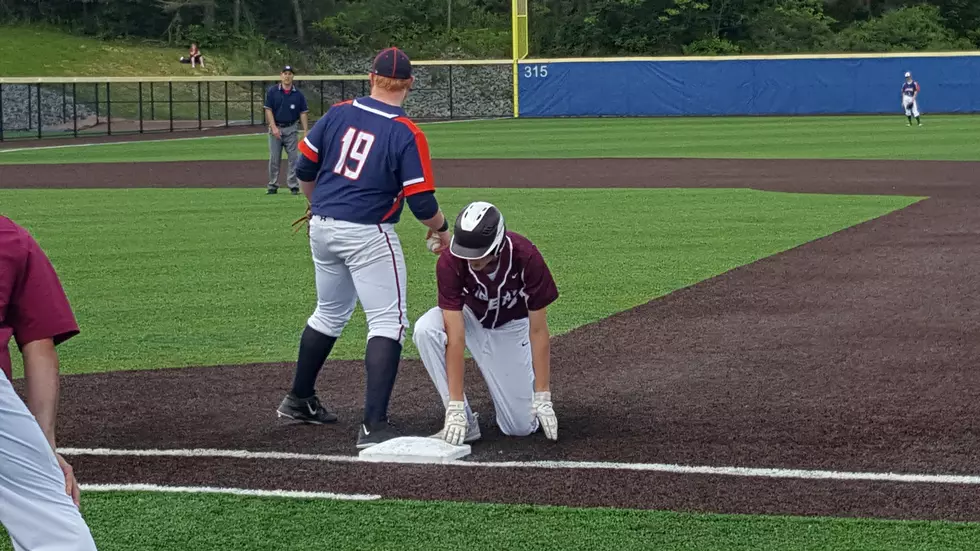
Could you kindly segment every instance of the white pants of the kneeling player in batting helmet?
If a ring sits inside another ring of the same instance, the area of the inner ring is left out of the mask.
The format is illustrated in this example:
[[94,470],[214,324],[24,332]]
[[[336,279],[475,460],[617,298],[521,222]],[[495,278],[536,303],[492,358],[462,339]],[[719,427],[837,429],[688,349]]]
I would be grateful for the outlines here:
[[[501,432],[508,436],[527,436],[536,432],[538,419],[534,412],[534,368],[528,320],[515,320],[496,329],[486,329],[473,312],[464,307],[463,324],[466,348],[490,389]],[[440,308],[429,310],[415,322],[412,341],[442,397],[443,407],[448,407],[446,326]],[[469,401],[465,401],[466,419],[472,422],[473,410]]]

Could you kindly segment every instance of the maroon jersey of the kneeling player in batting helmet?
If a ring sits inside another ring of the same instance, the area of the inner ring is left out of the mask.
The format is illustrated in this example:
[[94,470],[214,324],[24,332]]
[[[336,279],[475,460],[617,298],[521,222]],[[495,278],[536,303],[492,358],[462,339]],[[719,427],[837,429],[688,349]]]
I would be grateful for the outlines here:
[[443,251],[436,263],[439,308],[469,307],[487,329],[527,317],[558,298],[551,271],[541,252],[523,235],[507,232],[500,258],[487,270],[474,272],[469,263]]

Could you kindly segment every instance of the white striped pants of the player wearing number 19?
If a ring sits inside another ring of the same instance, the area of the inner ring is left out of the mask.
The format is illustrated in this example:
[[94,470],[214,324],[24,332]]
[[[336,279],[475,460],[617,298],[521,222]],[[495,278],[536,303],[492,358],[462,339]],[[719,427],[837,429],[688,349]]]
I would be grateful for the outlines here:
[[313,216],[310,250],[317,295],[316,309],[307,320],[310,327],[339,337],[360,300],[368,339],[405,342],[407,270],[393,224],[354,224]]

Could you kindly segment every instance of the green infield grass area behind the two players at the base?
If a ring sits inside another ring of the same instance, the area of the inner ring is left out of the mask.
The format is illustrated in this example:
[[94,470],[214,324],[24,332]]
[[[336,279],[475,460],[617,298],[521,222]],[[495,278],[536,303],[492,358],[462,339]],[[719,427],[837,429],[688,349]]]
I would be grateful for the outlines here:
[[[446,212],[493,201],[541,248],[556,334],[902,208],[914,199],[751,190],[443,189]],[[548,205],[544,210],[541,205]],[[5,190],[61,274],[82,335],[66,372],[287,361],[315,305],[305,202],[262,190]],[[51,217],[51,213],[58,213]],[[66,230],[68,229],[68,230]],[[412,323],[435,304],[423,226],[397,226]],[[363,357],[360,308],[331,357]],[[416,351],[410,341],[407,357]]]

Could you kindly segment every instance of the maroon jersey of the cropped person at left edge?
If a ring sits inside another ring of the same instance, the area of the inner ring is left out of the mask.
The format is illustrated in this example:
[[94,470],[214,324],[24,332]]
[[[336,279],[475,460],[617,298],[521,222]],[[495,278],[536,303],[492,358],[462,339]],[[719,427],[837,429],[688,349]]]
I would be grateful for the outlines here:
[[78,324],[58,274],[28,231],[0,216],[0,370],[11,379],[10,337],[60,344]]

